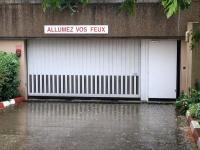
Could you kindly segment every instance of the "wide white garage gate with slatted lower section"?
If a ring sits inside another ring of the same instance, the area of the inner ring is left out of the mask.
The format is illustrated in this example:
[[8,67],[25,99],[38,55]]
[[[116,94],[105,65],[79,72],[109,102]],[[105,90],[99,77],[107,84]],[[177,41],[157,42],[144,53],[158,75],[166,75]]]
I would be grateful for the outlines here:
[[140,41],[28,41],[28,95],[140,97]]

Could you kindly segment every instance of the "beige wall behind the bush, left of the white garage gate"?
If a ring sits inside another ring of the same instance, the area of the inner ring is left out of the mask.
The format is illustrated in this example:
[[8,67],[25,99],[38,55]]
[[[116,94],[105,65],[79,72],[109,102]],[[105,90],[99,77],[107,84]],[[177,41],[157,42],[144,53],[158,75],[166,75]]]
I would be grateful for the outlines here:
[[16,47],[22,48],[22,55],[20,57],[20,87],[19,91],[22,96],[27,97],[26,90],[26,53],[25,53],[25,44],[23,40],[0,40],[0,51],[12,52],[15,53]]

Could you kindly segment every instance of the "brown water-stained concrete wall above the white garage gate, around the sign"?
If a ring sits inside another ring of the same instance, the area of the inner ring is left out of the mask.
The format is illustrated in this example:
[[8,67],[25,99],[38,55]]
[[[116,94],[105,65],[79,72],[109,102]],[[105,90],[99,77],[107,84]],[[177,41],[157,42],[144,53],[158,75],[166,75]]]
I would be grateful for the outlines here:
[[181,11],[170,19],[166,18],[159,3],[137,4],[134,16],[118,14],[118,8],[118,4],[91,4],[80,8],[78,14],[71,15],[69,11],[44,13],[40,4],[1,4],[0,38],[56,37],[44,35],[43,29],[44,25],[54,24],[106,24],[109,25],[109,34],[103,35],[105,37],[183,38],[187,22],[200,20],[200,2],[193,2],[189,10]]

